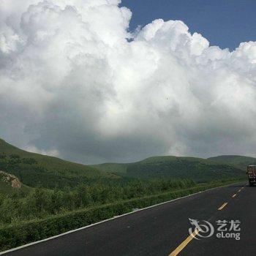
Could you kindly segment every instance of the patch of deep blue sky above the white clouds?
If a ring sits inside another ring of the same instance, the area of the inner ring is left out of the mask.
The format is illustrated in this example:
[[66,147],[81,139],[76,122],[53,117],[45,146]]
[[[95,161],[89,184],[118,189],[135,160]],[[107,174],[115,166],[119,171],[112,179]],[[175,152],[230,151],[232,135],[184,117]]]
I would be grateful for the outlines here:
[[121,5],[132,10],[130,29],[162,18],[184,21],[220,48],[256,41],[255,0],[123,0]]

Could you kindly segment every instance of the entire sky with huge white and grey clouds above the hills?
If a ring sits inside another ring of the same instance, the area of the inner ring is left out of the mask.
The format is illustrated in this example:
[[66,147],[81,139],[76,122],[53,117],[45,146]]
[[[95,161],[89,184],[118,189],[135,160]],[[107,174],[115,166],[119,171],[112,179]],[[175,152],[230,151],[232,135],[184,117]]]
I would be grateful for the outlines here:
[[254,5],[1,0],[0,138],[85,164],[256,157]]

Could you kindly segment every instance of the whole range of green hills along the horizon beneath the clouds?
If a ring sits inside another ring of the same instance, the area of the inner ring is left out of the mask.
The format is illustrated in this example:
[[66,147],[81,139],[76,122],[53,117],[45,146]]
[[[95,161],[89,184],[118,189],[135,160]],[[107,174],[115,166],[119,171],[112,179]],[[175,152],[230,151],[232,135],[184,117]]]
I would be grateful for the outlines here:
[[253,157],[219,156],[148,157],[131,163],[80,165],[56,157],[30,153],[0,139],[0,170],[11,173],[29,187],[75,187],[113,178],[190,178],[204,182],[225,178],[246,178],[246,165]]

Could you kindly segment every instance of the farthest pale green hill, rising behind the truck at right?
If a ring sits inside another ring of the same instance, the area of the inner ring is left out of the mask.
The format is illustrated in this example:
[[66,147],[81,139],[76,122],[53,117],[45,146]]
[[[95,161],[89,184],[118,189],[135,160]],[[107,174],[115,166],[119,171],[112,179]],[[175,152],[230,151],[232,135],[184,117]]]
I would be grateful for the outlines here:
[[208,158],[215,162],[225,162],[228,165],[233,165],[241,170],[246,170],[247,165],[256,165],[256,158],[254,157],[244,157],[244,156],[219,156],[219,157],[210,157]]

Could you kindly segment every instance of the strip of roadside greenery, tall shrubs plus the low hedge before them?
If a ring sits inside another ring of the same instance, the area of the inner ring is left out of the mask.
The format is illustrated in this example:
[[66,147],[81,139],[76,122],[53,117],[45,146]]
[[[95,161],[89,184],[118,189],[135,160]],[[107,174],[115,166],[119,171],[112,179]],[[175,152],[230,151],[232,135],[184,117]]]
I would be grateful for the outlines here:
[[[156,182],[151,184],[154,186],[153,190],[149,189],[149,184],[139,182],[133,184],[136,185],[136,189],[130,189],[129,186],[132,184],[129,184],[128,194],[120,193],[119,198],[116,197],[115,192],[120,187],[112,189],[112,193],[108,190],[107,195],[112,197],[106,197],[104,189],[95,188],[94,199],[97,198],[95,201],[88,200],[86,197],[88,188],[84,186],[78,186],[73,192],[60,192],[56,189],[46,192],[38,188],[26,197],[18,195],[1,197],[0,218],[3,220],[0,226],[0,251],[135,211],[137,208],[152,206],[237,181],[212,181],[208,184],[194,184],[193,181]],[[69,203],[74,209],[70,208]],[[8,214],[10,211],[12,213]],[[25,216],[24,213],[27,215]]]

